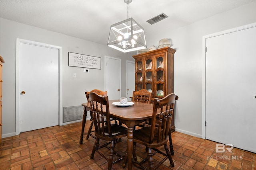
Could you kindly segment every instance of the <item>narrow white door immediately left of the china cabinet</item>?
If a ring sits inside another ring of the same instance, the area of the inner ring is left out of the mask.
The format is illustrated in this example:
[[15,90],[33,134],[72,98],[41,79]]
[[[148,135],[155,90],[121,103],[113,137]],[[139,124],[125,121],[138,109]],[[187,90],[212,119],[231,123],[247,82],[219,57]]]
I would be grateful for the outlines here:
[[135,62],[126,62],[126,94],[128,101],[131,101],[132,92],[135,90]]

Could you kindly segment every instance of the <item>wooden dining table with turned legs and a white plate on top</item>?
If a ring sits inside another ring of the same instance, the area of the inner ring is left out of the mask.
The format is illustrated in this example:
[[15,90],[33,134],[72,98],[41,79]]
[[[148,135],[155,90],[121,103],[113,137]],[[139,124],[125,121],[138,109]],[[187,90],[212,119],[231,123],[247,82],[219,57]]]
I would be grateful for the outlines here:
[[[132,169],[132,147],[133,147],[133,131],[134,126],[139,125],[146,119],[152,118],[153,104],[147,104],[142,102],[134,102],[132,106],[116,106],[113,102],[119,102],[119,100],[109,100],[110,117],[125,124],[127,128],[127,152],[128,152],[128,170]],[[83,103],[84,117],[82,121],[82,127],[84,127],[87,117],[87,111],[91,109],[90,103]],[[82,128],[80,144],[83,143],[84,128]]]

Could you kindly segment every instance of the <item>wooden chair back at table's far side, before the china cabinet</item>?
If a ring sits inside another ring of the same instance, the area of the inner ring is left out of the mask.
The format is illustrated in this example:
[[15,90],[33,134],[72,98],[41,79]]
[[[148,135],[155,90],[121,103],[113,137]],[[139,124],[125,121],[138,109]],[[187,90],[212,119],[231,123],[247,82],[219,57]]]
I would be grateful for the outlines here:
[[132,102],[143,102],[143,103],[151,103],[151,98],[153,96],[153,92],[149,92],[146,89],[142,89],[139,91],[133,91],[132,93]]

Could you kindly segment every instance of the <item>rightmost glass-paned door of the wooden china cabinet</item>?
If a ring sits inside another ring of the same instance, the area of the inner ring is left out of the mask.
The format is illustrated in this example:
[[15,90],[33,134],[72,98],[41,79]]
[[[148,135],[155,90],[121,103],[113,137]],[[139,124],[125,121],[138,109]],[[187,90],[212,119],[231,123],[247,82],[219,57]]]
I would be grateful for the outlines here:
[[165,72],[164,72],[164,67],[165,67],[165,54],[159,54],[155,56],[155,97],[156,98],[163,98],[166,95],[165,92]]

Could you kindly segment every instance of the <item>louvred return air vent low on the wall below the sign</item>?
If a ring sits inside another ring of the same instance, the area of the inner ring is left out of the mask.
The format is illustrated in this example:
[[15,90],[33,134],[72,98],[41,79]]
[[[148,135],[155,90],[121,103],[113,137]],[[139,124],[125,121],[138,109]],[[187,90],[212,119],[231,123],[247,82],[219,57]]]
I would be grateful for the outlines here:
[[83,119],[83,106],[63,107],[63,122],[75,121]]

